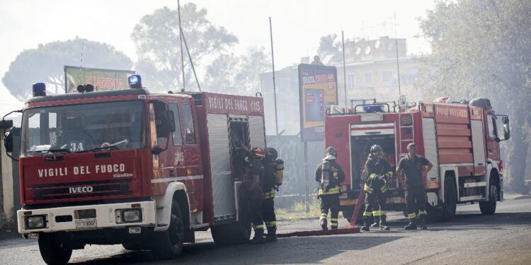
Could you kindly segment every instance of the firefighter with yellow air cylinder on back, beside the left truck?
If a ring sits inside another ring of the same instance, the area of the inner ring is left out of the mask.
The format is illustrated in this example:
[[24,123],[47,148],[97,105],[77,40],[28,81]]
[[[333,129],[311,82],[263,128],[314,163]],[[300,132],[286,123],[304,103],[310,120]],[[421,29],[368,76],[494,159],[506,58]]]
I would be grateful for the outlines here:
[[264,177],[261,180],[262,196],[262,215],[265,227],[268,228],[268,235],[265,237],[266,242],[277,241],[277,218],[275,216],[275,193],[278,191],[276,182],[278,152],[275,148],[265,148],[265,158],[262,160],[264,167]]

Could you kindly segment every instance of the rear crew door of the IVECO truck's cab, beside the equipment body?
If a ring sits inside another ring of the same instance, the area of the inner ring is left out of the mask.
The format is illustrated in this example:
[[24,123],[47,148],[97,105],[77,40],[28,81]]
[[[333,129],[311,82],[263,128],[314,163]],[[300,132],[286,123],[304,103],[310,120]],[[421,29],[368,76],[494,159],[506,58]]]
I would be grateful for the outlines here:
[[190,102],[181,104],[181,121],[184,136],[184,160],[187,176],[186,187],[188,189],[188,199],[190,200],[190,211],[203,211],[201,147],[198,143],[197,115]]

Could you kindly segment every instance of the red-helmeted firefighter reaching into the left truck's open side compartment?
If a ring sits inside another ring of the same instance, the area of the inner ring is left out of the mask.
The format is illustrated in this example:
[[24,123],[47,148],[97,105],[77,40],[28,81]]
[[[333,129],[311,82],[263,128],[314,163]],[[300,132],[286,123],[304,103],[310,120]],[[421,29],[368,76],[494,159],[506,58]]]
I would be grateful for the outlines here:
[[242,184],[243,197],[249,200],[251,222],[253,223],[254,237],[251,244],[263,244],[263,218],[262,218],[262,190],[261,179],[263,179],[264,168],[261,160],[265,157],[265,151],[261,147],[251,149],[251,168],[249,177]]

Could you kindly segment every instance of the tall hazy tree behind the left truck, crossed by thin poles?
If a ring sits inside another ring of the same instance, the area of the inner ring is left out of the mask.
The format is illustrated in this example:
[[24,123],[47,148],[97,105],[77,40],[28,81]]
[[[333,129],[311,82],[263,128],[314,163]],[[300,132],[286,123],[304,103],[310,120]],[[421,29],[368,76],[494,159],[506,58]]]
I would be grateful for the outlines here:
[[[195,69],[207,67],[238,43],[238,39],[223,27],[212,25],[206,18],[205,8],[198,9],[193,3],[181,7],[183,36],[188,43]],[[131,37],[137,47],[136,69],[144,76],[144,83],[152,90],[176,90],[182,88],[181,46],[178,27],[178,11],[160,8],[144,16],[135,25]],[[185,45],[183,44],[183,49]],[[190,61],[184,50],[185,86],[195,86]]]

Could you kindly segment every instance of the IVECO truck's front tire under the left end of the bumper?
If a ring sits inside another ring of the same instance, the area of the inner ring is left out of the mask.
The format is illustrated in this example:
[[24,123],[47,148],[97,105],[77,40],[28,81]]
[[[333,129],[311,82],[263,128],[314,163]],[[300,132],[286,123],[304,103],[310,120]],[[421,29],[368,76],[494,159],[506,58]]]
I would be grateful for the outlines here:
[[67,264],[72,257],[72,248],[66,242],[57,240],[52,233],[39,235],[40,256],[48,265]]

